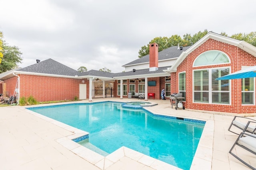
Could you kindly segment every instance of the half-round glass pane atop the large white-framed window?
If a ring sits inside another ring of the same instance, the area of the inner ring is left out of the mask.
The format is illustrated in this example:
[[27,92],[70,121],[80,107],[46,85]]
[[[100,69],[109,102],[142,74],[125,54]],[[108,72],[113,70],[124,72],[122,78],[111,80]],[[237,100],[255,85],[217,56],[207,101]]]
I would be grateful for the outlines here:
[[194,61],[194,66],[205,66],[230,63],[229,57],[222,51],[211,50],[200,54]]

